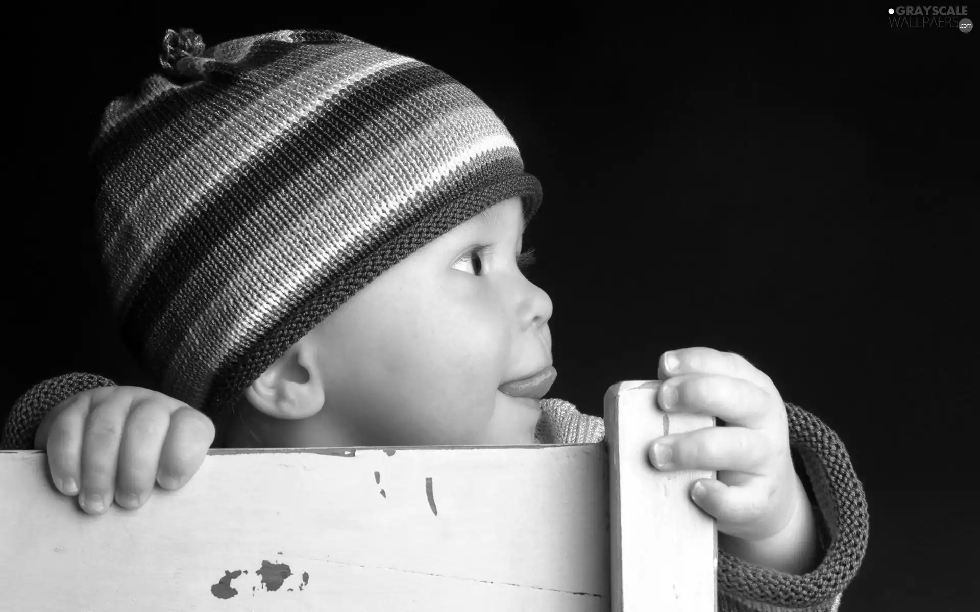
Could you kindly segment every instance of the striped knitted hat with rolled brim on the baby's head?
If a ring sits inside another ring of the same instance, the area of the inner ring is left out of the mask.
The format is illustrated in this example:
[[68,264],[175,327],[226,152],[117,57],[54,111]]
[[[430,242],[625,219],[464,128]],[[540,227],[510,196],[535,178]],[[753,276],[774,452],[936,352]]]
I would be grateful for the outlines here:
[[102,117],[96,228],[126,346],[212,416],[418,248],[540,205],[504,123],[417,60],[327,30],[163,47]]

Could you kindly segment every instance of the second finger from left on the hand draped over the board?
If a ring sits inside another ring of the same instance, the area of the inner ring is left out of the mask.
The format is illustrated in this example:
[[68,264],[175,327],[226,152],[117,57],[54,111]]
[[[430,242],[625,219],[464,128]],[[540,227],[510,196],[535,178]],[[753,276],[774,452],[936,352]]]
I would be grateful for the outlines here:
[[120,441],[131,401],[132,396],[124,393],[97,400],[85,420],[78,503],[89,514],[102,514],[113,503]]

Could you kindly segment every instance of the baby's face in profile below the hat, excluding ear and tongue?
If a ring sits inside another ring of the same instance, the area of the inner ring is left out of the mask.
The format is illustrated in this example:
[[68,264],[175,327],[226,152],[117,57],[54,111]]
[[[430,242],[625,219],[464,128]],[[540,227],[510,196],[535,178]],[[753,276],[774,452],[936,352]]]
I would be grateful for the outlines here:
[[306,420],[328,438],[321,446],[534,444],[540,409],[498,387],[552,364],[552,303],[517,268],[520,199],[485,216],[400,261],[311,332],[325,400]]

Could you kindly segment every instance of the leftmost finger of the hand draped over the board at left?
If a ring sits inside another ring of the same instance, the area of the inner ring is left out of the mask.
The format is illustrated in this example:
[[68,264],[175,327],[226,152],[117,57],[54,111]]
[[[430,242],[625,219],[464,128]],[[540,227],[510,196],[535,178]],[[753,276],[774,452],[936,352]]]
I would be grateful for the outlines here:
[[[82,432],[91,402],[90,394],[74,396],[51,423],[51,429],[46,434],[45,450],[51,480],[58,491],[66,495],[76,495],[79,491]],[[58,409],[61,404],[55,407]]]

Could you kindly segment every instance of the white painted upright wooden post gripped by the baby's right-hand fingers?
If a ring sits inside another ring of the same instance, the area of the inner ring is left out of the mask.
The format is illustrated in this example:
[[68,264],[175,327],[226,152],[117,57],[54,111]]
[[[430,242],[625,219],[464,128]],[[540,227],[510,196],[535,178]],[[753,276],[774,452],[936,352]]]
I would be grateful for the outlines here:
[[708,611],[717,605],[714,519],[691,500],[702,470],[661,472],[649,460],[661,436],[714,424],[705,414],[664,413],[660,381],[625,381],[606,393],[610,457],[613,612]]

